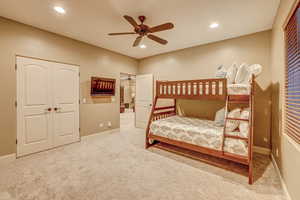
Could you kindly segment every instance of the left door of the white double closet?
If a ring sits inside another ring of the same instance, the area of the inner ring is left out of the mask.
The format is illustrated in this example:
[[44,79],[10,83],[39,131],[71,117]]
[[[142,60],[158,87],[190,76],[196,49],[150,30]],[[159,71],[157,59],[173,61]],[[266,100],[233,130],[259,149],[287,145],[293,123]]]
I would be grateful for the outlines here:
[[50,63],[17,57],[17,155],[52,147]]

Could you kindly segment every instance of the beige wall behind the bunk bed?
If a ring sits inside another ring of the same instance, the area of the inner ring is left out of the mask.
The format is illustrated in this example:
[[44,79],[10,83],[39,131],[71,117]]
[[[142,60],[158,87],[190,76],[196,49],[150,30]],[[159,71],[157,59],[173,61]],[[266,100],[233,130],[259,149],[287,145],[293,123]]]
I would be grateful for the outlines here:
[[[139,73],[153,73],[159,80],[189,80],[212,78],[216,68],[229,67],[234,61],[259,63],[263,72],[257,79],[255,96],[255,145],[270,147],[271,126],[271,31],[260,32],[235,39],[166,53],[140,61]],[[181,101],[187,115],[212,118],[213,103]],[[214,110],[224,106],[219,103]],[[267,139],[267,142],[264,141]]]

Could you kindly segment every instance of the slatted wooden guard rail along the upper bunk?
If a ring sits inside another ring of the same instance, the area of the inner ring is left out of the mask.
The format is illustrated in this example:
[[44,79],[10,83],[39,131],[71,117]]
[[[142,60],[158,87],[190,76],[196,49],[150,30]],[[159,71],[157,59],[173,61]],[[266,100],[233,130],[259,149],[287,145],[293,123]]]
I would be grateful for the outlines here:
[[173,99],[226,100],[227,79],[156,81],[156,96]]

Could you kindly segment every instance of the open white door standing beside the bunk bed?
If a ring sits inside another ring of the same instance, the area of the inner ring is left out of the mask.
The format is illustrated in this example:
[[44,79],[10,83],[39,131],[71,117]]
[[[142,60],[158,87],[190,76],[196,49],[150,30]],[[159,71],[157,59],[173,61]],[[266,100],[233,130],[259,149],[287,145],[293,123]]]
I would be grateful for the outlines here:
[[136,76],[135,113],[137,128],[146,128],[153,102],[153,75]]

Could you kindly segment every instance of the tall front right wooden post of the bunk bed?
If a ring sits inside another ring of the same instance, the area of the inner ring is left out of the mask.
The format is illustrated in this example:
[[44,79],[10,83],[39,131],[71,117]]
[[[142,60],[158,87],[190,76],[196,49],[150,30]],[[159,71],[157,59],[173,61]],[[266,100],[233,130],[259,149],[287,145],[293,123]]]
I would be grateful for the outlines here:
[[250,94],[250,110],[251,110],[251,125],[250,125],[250,143],[249,148],[249,184],[253,184],[253,132],[254,132],[254,92],[255,90],[255,76],[252,75],[251,94]]

